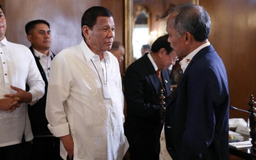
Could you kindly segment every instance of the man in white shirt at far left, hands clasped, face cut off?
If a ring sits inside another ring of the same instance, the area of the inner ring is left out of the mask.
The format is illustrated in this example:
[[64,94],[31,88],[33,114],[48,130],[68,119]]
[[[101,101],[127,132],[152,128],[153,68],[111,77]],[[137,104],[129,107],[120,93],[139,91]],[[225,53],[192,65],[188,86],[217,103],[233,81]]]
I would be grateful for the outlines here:
[[44,81],[31,51],[7,41],[5,34],[6,17],[0,5],[0,159],[29,160],[33,134],[27,103],[43,97]]

